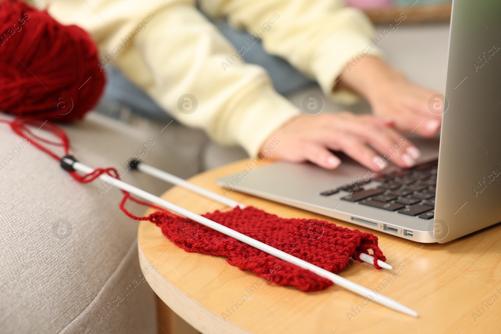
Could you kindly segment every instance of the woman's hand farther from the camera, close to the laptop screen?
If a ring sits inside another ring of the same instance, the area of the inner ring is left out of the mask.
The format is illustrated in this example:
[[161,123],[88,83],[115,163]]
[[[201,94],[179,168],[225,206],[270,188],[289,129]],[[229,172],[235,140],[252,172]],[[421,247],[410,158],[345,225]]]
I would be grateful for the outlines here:
[[442,115],[428,106],[436,93],[409,82],[376,57],[365,57],[356,67],[345,68],[340,83],[366,98],[375,116],[392,122],[401,132],[432,137],[440,130]]

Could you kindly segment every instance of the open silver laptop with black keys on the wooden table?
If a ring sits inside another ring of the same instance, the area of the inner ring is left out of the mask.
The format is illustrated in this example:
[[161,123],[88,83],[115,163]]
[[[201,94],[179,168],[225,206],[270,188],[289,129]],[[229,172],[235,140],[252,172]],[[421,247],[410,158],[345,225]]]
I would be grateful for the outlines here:
[[336,170],[260,166],[257,158],[217,183],[417,242],[444,243],[500,222],[499,17],[498,0],[453,1],[440,139],[413,139],[422,152],[415,167],[371,175],[346,156]]

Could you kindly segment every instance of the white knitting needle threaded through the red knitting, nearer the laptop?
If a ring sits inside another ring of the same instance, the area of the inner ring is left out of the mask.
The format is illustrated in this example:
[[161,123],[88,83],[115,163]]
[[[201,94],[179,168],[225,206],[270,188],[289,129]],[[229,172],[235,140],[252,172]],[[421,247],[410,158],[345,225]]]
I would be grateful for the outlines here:
[[[240,209],[245,208],[245,204],[239,203],[239,202],[232,200],[230,198],[216,194],[210,190],[207,190],[205,188],[197,186],[191,182],[188,182],[184,179],[181,179],[180,177],[177,177],[175,175],[167,173],[166,171],[163,171],[161,169],[158,169],[156,167],[148,165],[144,162],[141,162],[138,160],[131,160],[130,167],[133,169],[137,169],[138,171],[143,172],[145,174],[156,177],[160,180],[164,180],[164,181],[167,181],[169,183],[180,186],[184,189],[190,190],[190,191],[192,191],[196,194],[199,194],[201,196],[210,198],[216,202],[219,202],[221,204],[229,206],[230,208],[234,208],[236,206],[240,207]],[[365,254],[365,253],[360,254],[360,259],[364,262],[374,264],[374,257],[372,257],[369,254]],[[382,268],[386,268],[386,269],[390,269],[390,270],[393,269],[393,267],[391,265],[389,265],[388,263],[383,262],[381,260],[377,260],[377,264]]]

